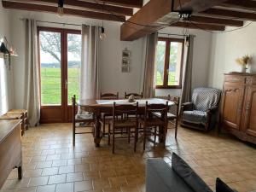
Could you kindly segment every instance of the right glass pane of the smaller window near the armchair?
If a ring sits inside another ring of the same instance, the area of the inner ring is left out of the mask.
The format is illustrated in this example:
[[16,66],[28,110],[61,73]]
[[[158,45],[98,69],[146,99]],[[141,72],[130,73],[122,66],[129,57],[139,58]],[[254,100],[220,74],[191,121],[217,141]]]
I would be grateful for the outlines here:
[[168,85],[180,85],[183,44],[171,42]]

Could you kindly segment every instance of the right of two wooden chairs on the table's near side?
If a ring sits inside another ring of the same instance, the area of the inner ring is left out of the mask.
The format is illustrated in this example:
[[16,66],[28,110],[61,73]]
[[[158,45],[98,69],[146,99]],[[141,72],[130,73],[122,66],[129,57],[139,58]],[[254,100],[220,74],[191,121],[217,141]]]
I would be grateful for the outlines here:
[[[168,102],[165,104],[149,104],[146,102],[144,118],[141,120],[143,125],[143,150],[146,146],[146,138],[154,136],[154,146],[156,137],[162,139],[164,147],[166,146],[166,129],[168,126],[167,119]],[[154,113],[160,113],[161,118],[154,116]],[[152,131],[154,130],[154,131]]]

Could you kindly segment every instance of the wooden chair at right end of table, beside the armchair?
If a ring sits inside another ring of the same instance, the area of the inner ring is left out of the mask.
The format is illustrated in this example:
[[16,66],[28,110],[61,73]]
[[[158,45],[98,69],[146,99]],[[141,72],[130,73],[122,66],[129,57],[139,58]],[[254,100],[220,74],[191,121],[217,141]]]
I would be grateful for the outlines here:
[[[170,113],[170,112],[167,113],[167,119],[169,120],[169,123],[174,126],[175,138],[177,138],[178,109],[179,109],[180,97],[168,95],[168,101],[174,102],[176,106],[175,113]],[[154,113],[154,115],[157,116],[158,118],[161,117],[160,113]]]

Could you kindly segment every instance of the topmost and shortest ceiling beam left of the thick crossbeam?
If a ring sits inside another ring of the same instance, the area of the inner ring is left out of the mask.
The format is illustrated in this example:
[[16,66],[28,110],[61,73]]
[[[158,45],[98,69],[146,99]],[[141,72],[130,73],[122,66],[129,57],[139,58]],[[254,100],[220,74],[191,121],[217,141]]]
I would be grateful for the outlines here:
[[[86,0],[90,2],[95,2],[96,0]],[[143,0],[97,0],[97,2],[119,5],[128,8],[142,8]]]

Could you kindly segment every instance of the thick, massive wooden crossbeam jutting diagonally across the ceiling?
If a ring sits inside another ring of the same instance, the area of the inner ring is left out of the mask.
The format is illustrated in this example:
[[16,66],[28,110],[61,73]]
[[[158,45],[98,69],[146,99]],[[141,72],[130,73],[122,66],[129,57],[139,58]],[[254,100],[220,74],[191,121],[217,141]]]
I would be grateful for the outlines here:
[[[198,11],[203,11],[211,8],[212,6],[224,3],[227,0],[173,0],[174,10],[193,10],[193,13]],[[202,3],[203,2],[203,3]],[[182,5],[180,8],[180,4]],[[173,16],[174,15],[174,16]],[[133,15],[129,20],[121,26],[121,40],[135,40],[137,38],[142,38],[146,34],[151,32],[156,32],[163,25],[169,25],[175,21],[178,14],[172,12],[172,0],[150,0],[147,4],[143,6],[135,15]],[[177,20],[177,19],[176,19]],[[137,23],[141,25],[132,25],[132,23]],[[162,26],[160,26],[160,24]],[[157,26],[158,27],[148,27]]]

